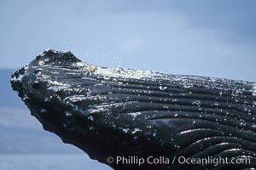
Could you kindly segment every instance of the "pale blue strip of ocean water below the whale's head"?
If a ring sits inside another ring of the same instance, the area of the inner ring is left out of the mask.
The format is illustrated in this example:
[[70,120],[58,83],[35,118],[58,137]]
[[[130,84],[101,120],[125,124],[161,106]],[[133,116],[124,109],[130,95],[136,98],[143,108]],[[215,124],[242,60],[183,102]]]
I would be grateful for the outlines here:
[[1,170],[111,170],[85,154],[0,154]]

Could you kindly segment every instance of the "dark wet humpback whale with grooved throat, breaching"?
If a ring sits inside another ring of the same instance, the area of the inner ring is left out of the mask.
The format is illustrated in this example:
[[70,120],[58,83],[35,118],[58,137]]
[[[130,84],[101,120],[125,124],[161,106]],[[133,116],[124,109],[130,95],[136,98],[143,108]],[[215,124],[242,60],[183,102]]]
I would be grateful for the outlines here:
[[254,82],[101,67],[49,49],[11,84],[44,130],[113,169],[256,166]]

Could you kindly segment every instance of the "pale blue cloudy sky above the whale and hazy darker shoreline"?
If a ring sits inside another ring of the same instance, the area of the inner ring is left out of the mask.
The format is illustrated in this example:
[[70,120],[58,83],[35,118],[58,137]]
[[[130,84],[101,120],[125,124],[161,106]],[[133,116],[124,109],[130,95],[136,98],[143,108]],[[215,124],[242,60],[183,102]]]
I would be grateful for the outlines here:
[[44,49],[94,65],[256,82],[253,0],[1,0],[0,69]]

